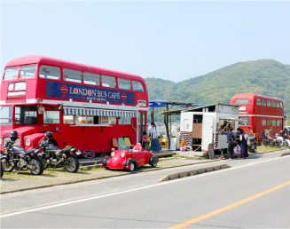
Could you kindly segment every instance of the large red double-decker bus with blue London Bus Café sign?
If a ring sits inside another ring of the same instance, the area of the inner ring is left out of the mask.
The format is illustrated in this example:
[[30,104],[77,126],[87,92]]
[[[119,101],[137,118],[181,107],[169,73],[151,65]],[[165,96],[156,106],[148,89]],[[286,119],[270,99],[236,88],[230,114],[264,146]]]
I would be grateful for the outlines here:
[[109,152],[113,138],[140,141],[148,93],[138,75],[42,56],[12,59],[0,95],[0,148],[12,130],[17,145],[39,146],[51,130],[59,147]]

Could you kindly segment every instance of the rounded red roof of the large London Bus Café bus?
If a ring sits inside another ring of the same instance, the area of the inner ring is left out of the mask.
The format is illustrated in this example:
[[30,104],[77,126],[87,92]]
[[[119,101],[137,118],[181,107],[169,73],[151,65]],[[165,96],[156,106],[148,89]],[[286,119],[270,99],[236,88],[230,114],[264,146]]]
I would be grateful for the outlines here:
[[122,73],[119,71],[109,70],[109,69],[102,68],[102,67],[93,67],[93,66],[89,66],[89,65],[74,63],[74,62],[67,61],[67,60],[54,59],[54,58],[49,58],[49,57],[37,56],[37,55],[30,55],[30,56],[20,57],[17,59],[12,59],[6,64],[5,67],[31,65],[31,64],[37,64],[37,63],[43,64],[43,65],[67,67],[67,68],[79,70],[79,71],[95,72],[95,73],[98,73],[100,75],[114,75],[114,76],[122,76],[122,77],[127,76],[129,79],[144,82],[143,78],[139,75]]

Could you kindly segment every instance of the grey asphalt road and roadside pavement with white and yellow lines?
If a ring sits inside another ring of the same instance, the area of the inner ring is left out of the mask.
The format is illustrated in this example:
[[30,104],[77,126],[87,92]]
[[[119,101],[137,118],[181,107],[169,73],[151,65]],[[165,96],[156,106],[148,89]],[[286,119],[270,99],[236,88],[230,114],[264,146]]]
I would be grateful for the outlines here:
[[289,228],[290,156],[227,163],[231,169],[173,181],[156,182],[174,171],[159,170],[3,195],[1,228]]

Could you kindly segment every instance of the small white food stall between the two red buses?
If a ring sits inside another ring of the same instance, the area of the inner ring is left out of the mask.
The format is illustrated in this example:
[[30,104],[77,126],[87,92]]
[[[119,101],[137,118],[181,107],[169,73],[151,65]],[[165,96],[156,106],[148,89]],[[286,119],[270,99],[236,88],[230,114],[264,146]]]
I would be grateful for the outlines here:
[[206,107],[195,107],[181,111],[180,138],[184,138],[185,147],[190,150],[208,151],[212,144],[215,150],[226,149],[226,135],[222,134],[232,127],[237,132],[239,127],[239,106],[216,104]]

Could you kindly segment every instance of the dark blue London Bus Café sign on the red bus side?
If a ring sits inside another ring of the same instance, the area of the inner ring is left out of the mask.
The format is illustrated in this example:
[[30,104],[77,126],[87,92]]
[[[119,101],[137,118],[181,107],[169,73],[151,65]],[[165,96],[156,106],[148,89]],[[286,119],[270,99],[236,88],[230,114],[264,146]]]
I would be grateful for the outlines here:
[[135,105],[135,93],[71,83],[46,82],[46,97]]

